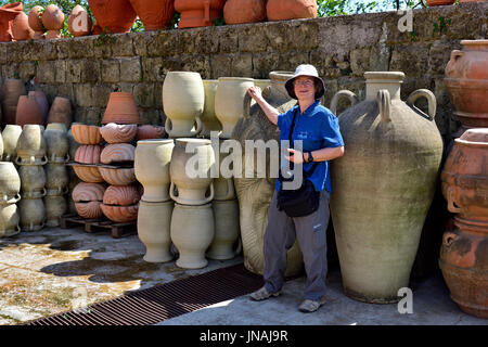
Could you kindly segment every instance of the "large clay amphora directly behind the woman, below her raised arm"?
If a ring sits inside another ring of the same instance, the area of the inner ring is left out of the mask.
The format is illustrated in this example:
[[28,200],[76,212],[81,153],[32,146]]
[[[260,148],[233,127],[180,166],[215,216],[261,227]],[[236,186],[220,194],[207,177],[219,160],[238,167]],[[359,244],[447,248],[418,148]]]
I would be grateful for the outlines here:
[[[280,113],[285,113],[296,104],[296,100],[288,97],[284,87],[285,81],[293,76],[291,72],[271,72],[271,85],[264,91],[265,100]],[[244,117],[234,127],[232,139],[240,142],[245,149],[245,141],[269,140],[280,141],[280,130],[271,124],[258,104],[252,104],[246,94]],[[262,253],[264,236],[268,226],[268,210],[274,193],[274,178],[267,172],[266,178],[258,177],[257,166],[254,165],[253,177],[246,177],[245,151],[242,153],[241,177],[234,177],[235,192],[239,198],[240,224],[244,266],[254,273],[264,273],[265,257]],[[220,154],[222,155],[222,154]],[[257,157],[257,150],[254,153]],[[270,156],[267,155],[267,167],[270,166]],[[249,168],[247,167],[247,170]],[[288,249],[286,277],[297,275],[303,271],[301,250],[298,242]]]

